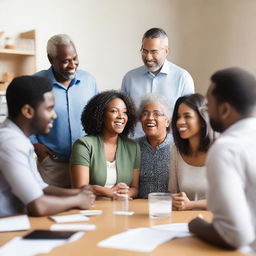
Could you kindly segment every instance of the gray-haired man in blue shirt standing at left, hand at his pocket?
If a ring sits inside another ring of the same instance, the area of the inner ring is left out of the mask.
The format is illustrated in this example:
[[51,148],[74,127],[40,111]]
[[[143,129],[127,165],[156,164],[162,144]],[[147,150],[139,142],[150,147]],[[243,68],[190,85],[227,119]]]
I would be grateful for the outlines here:
[[51,67],[35,76],[48,78],[53,85],[57,119],[49,134],[31,136],[43,180],[54,186],[70,187],[69,157],[72,144],[84,131],[81,113],[87,101],[98,93],[94,77],[78,69],[75,44],[66,34],[54,35],[47,43]]

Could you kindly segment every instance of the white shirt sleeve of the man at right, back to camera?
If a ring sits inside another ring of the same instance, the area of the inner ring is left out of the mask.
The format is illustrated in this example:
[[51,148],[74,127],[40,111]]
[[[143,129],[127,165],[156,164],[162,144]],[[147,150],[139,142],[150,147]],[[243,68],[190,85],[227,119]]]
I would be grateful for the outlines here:
[[217,142],[207,158],[207,204],[215,229],[228,244],[238,248],[255,238],[246,200],[245,164],[238,149]]

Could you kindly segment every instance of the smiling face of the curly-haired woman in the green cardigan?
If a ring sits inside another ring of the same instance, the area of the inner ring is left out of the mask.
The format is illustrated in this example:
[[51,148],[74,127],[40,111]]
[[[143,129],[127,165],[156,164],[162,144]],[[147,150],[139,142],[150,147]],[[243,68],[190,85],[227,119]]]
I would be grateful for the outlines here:
[[106,108],[103,133],[121,134],[128,121],[127,107],[123,100],[116,98],[111,100]]

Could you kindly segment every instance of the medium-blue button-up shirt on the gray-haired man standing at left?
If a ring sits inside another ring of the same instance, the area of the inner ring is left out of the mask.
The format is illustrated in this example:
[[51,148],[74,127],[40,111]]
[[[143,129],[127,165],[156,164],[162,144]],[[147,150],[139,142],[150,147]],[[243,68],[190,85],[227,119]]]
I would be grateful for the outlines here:
[[35,74],[43,76],[53,84],[54,110],[57,118],[49,134],[33,135],[33,144],[41,143],[51,149],[59,159],[68,160],[73,143],[85,135],[81,125],[81,113],[87,102],[98,93],[94,77],[86,71],[77,70],[68,88],[59,83],[51,68]]

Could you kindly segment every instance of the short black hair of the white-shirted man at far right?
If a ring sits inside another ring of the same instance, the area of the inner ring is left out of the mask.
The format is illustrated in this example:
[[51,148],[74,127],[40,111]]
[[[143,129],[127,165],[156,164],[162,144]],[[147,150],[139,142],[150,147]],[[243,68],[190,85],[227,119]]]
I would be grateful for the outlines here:
[[228,102],[241,115],[251,114],[256,106],[255,76],[241,68],[233,67],[215,72],[212,95],[219,103]]

